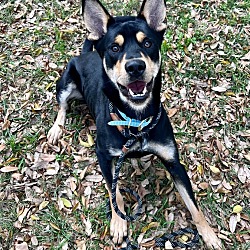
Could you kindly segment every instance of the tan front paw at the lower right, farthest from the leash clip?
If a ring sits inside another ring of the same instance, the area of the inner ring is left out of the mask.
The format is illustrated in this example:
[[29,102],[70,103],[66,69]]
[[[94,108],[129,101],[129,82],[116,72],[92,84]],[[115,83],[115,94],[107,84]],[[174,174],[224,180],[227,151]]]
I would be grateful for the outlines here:
[[199,228],[198,231],[206,243],[208,249],[222,249],[221,241],[211,227]]

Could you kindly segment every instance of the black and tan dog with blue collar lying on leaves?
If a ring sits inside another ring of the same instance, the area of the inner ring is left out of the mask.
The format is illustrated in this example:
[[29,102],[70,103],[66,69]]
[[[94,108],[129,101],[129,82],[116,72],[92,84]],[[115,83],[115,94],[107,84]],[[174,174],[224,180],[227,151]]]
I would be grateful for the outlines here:
[[[136,134],[138,129],[143,131],[150,127],[159,114],[160,48],[166,29],[163,23],[166,5],[164,0],[144,0],[137,17],[114,18],[98,0],[83,0],[83,13],[86,28],[90,32],[89,40],[82,54],[68,63],[57,83],[60,109],[48,140],[54,144],[61,136],[68,101],[83,99],[96,121],[96,154],[110,193],[112,161],[121,154],[127,141],[119,130],[130,125],[126,129]],[[119,129],[109,123],[112,120],[110,103],[114,106],[113,119],[124,122],[118,126]],[[179,161],[166,112],[162,111],[157,124],[148,131],[146,137],[137,139],[126,156],[157,155],[170,172],[208,248],[221,249],[220,240],[195,202],[189,178]],[[117,203],[124,212],[124,201],[118,189]],[[114,210],[110,234],[116,244],[121,244],[127,235],[127,222]]]

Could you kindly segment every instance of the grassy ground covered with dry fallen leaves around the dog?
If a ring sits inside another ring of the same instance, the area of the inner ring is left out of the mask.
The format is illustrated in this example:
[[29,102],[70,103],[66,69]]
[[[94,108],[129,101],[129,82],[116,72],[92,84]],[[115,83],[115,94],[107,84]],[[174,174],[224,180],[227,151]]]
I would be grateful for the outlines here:
[[[139,6],[103,2],[114,15],[135,15]],[[162,45],[161,100],[225,249],[250,248],[249,13],[247,0],[170,0]],[[46,138],[56,81],[86,37],[80,3],[2,0],[0,31],[0,249],[113,249],[86,107],[72,104],[58,145]],[[143,198],[143,215],[129,226],[141,249],[159,249],[153,238],[194,227],[157,159],[127,161],[122,172],[120,182]],[[206,249],[202,240],[197,249]]]

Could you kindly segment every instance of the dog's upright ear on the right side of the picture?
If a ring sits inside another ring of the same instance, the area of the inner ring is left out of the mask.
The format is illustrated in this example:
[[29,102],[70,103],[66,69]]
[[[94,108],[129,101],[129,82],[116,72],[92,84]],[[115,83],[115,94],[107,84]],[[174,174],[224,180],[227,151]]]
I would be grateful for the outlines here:
[[165,0],[144,0],[138,18],[145,19],[149,27],[156,31],[166,29],[166,24],[163,23],[166,17]]

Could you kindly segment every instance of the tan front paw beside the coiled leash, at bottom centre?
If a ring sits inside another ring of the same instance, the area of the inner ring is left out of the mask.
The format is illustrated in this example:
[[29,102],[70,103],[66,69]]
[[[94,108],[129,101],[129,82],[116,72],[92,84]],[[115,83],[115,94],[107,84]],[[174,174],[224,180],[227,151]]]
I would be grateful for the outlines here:
[[116,213],[114,213],[110,222],[110,236],[114,244],[122,244],[124,238],[127,236],[127,230],[127,221],[123,220]]

